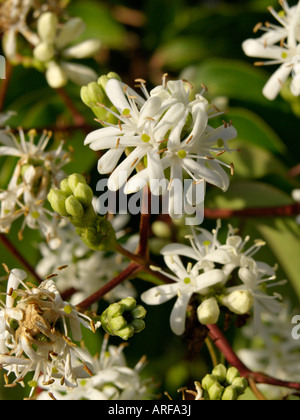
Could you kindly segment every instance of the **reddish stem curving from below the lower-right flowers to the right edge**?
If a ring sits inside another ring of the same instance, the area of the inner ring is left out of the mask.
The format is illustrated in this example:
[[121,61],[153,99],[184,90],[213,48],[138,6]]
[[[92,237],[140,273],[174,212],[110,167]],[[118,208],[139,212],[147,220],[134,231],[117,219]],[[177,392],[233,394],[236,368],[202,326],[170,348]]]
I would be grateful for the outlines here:
[[300,390],[300,383],[298,382],[290,382],[290,381],[282,381],[280,379],[272,378],[269,375],[266,375],[262,372],[252,372],[244,363],[238,358],[236,353],[231,348],[227,338],[221,332],[217,325],[208,325],[209,329],[209,336],[213,340],[215,346],[221,351],[221,353],[225,356],[227,362],[236,367],[237,370],[240,372],[241,376],[245,377],[246,379],[250,378],[255,381],[257,384],[267,384],[267,385],[274,385],[274,386],[282,386],[290,389]]

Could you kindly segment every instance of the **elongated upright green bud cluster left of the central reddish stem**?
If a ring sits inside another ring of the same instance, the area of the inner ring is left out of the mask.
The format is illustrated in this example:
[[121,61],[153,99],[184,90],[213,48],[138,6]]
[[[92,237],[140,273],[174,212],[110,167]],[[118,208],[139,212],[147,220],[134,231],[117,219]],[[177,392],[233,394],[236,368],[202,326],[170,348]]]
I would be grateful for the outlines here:
[[116,234],[105,216],[96,214],[92,205],[93,190],[80,174],[72,174],[51,189],[48,200],[55,212],[68,217],[82,241],[95,251],[114,250]]

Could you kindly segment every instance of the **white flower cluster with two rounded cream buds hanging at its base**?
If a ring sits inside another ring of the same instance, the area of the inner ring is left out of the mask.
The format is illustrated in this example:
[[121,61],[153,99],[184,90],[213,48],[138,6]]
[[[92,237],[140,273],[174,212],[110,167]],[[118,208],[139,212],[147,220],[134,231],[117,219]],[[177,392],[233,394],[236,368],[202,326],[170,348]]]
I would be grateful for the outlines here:
[[[177,296],[170,318],[171,329],[177,335],[185,331],[186,311],[194,294],[201,302],[197,309],[198,319],[205,325],[217,323],[222,306],[238,315],[247,314],[253,308],[257,331],[263,311],[279,313],[281,310],[280,295],[266,293],[275,285],[272,283],[276,279],[275,268],[253,258],[264,243],[256,241],[245,250],[250,238],[243,240],[229,226],[226,243],[221,244],[219,229],[220,223],[213,233],[205,229],[199,229],[200,233],[193,230],[188,236],[190,246],[167,245],[161,253],[174,273],[165,273],[173,283],[149,289],[141,296],[148,305],[158,305]],[[183,258],[188,259],[186,266]]]

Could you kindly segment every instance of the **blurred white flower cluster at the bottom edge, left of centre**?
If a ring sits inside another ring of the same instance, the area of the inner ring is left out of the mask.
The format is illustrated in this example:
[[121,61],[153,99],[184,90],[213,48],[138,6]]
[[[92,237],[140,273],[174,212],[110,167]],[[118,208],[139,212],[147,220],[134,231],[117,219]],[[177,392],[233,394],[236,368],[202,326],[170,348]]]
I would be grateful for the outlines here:
[[[87,350],[81,350],[85,360],[93,369],[93,376],[79,381],[78,387],[66,393],[56,381],[48,387],[58,400],[141,400],[148,394],[149,380],[143,380],[140,372],[145,366],[143,357],[134,368],[127,366],[123,354],[125,346],[108,346],[104,338],[100,357],[92,357]],[[42,387],[45,388],[45,387]],[[42,392],[38,400],[49,399],[47,392]]]

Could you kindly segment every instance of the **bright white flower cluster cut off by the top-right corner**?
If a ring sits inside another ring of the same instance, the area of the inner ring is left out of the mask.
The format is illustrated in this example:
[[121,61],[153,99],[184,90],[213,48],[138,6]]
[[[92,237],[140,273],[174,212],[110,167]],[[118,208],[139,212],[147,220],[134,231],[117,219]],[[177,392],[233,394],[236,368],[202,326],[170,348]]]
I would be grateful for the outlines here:
[[270,23],[266,27],[258,25],[257,29],[266,33],[258,39],[248,39],[243,43],[246,55],[269,60],[258,62],[257,65],[280,64],[263,89],[263,94],[270,100],[277,97],[292,71],[294,77],[291,92],[294,96],[300,95],[300,3],[293,7],[289,7],[286,1],[281,1],[280,4],[283,7],[281,14],[273,7],[269,7],[269,10],[281,26]]

